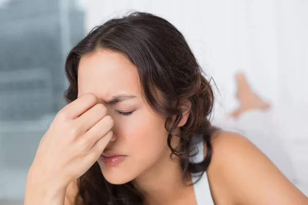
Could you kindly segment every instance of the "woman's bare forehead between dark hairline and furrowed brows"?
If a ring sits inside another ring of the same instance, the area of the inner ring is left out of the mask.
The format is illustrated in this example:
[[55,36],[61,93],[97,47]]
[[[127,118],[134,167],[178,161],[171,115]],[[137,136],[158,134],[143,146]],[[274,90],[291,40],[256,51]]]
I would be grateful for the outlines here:
[[83,56],[78,68],[78,95],[91,92],[101,98],[110,95],[140,95],[136,67],[122,54],[99,50]]

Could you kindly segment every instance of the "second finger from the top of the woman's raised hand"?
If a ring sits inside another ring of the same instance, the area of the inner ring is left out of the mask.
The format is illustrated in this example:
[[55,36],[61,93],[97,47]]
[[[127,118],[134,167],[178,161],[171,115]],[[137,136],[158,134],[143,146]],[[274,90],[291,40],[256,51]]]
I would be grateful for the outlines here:
[[96,104],[90,110],[75,119],[75,123],[76,126],[81,127],[82,132],[87,132],[106,115],[107,108],[103,104]]

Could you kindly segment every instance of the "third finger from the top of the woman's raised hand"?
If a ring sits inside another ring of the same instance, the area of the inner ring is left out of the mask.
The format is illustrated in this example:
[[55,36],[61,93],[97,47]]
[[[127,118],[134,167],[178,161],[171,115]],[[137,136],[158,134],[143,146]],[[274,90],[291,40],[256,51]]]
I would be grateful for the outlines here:
[[107,115],[91,127],[83,137],[88,139],[89,144],[92,145],[90,148],[92,148],[98,140],[100,140],[111,130],[112,127],[113,120],[109,115]]

